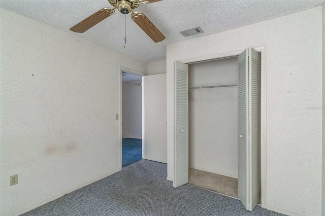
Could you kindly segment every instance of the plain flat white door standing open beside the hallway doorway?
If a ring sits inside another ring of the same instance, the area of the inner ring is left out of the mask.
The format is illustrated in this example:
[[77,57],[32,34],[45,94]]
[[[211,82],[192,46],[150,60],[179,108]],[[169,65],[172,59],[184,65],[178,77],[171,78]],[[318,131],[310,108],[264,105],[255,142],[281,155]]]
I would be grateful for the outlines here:
[[166,73],[144,77],[143,158],[167,163]]

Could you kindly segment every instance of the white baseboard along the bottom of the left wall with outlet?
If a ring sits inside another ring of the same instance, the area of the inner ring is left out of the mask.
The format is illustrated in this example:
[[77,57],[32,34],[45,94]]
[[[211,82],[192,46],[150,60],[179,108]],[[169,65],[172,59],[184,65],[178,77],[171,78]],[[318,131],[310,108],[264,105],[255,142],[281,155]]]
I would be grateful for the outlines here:
[[72,189],[70,189],[70,190],[68,190],[68,191],[65,191],[65,192],[63,192],[63,193],[60,193],[60,194],[58,194],[58,195],[55,195],[55,196],[53,196],[53,197],[51,197],[51,198],[49,198],[49,199],[46,199],[46,200],[44,200],[44,201],[42,201],[42,202],[39,202],[39,203],[37,203],[37,204],[35,204],[35,205],[29,206],[28,208],[25,208],[25,209],[23,209],[23,210],[17,211],[17,212],[15,212],[15,213],[11,214],[10,216],[18,216],[18,215],[20,215],[20,214],[26,213],[27,211],[30,211],[30,210],[32,210],[32,209],[34,209],[34,208],[37,208],[37,207],[39,207],[39,206],[41,206],[41,205],[44,205],[44,204],[48,203],[48,202],[51,202],[51,201],[53,201],[53,200],[56,200],[56,199],[60,198],[61,196],[64,196],[64,195],[69,194],[69,193],[71,193],[71,192],[73,192],[73,191],[76,191],[76,190],[78,190],[78,189],[80,189],[80,188],[83,188],[83,187],[85,187],[85,186],[87,186],[87,185],[90,185],[90,184],[92,184],[92,183],[94,183],[94,182],[97,182],[97,181],[99,181],[99,180],[101,180],[101,179],[103,179],[103,178],[106,178],[107,176],[110,176],[110,175],[112,175],[112,174],[114,174],[114,173],[116,173],[116,172],[119,172],[119,171],[121,171],[121,170],[122,170],[121,168],[118,168],[118,169],[114,170],[113,172],[110,172],[110,173],[108,173],[108,174],[102,175],[102,176],[100,176],[100,177],[98,177],[98,178],[95,178],[95,179],[93,179],[93,180],[91,180],[91,181],[89,181],[89,182],[86,182],[86,183],[84,183],[84,184],[82,184],[82,185],[79,185],[79,186],[77,186],[77,187],[75,187],[75,188],[72,188]]

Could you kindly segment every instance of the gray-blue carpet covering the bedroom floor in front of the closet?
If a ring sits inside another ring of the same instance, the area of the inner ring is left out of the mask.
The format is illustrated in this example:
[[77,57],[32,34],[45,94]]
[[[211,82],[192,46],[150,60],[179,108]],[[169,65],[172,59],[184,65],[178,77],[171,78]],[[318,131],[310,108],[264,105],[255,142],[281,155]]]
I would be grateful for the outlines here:
[[167,165],[140,160],[23,215],[282,215],[189,185],[173,188]]

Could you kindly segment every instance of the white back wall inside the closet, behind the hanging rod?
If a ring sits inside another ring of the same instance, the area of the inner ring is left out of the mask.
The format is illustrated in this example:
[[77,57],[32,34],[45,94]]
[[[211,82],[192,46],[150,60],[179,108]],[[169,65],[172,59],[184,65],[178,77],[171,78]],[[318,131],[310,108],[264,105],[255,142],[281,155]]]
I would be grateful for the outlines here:
[[[189,65],[189,86],[238,83],[237,57]],[[237,87],[188,92],[189,166],[238,176]]]

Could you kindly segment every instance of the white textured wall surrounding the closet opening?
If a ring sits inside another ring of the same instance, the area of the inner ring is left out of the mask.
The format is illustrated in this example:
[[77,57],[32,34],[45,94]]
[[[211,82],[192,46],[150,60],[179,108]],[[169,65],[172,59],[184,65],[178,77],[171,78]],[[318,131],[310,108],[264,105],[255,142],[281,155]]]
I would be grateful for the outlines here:
[[167,46],[168,178],[173,177],[173,62],[267,46],[267,208],[321,215],[322,8]]

